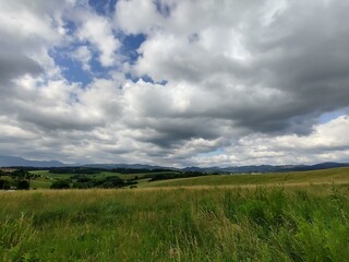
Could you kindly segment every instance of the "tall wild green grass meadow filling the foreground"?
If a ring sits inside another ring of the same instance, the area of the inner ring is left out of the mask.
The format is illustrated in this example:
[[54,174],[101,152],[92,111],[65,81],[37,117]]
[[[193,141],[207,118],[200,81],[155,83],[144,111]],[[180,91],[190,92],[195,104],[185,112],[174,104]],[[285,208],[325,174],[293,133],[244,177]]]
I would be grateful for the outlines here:
[[347,258],[346,184],[0,193],[4,262]]

